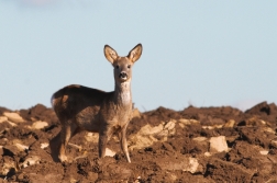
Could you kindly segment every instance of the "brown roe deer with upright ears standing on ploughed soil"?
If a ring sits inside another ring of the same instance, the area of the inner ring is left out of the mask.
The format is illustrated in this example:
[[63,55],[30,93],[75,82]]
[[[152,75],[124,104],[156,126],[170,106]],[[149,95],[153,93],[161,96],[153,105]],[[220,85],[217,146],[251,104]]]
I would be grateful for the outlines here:
[[70,137],[82,129],[99,133],[100,158],[106,155],[106,146],[110,137],[113,133],[118,133],[121,149],[128,162],[131,162],[125,134],[133,111],[132,66],[141,55],[141,44],[137,44],[126,57],[118,56],[112,47],[106,45],[104,56],[113,66],[114,91],[103,92],[73,84],[53,94],[52,106],[62,124],[58,151],[58,159],[62,162],[67,160],[65,149]]

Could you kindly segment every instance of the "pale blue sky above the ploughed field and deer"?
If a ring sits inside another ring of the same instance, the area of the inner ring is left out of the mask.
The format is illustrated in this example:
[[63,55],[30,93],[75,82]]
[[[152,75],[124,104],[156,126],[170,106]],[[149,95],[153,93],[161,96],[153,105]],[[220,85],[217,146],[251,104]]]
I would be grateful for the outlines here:
[[141,111],[277,102],[277,1],[0,0],[0,106],[51,106],[78,83],[112,91],[109,44],[137,43]]

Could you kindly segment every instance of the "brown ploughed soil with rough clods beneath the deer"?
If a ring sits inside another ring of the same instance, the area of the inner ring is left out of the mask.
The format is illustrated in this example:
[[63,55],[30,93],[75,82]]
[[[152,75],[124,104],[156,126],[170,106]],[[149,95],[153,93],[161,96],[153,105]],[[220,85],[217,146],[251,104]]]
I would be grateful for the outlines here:
[[[108,144],[115,155],[99,159],[98,136],[87,131],[70,139],[71,161],[60,163],[60,125],[53,110],[37,104],[15,112],[25,122],[4,118],[4,112],[12,111],[0,107],[0,182],[277,182],[274,103],[246,112],[230,106],[135,111],[128,128],[132,163],[115,136]],[[48,125],[32,127],[40,121]],[[228,149],[214,150],[214,137],[223,137]]]

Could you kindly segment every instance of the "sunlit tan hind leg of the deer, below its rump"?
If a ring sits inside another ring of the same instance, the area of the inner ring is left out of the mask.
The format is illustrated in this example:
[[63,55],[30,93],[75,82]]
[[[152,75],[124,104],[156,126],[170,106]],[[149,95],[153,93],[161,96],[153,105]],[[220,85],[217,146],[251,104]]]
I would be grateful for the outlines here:
[[77,126],[74,123],[67,123],[67,125],[62,127],[60,147],[59,147],[59,153],[58,153],[59,161],[62,162],[67,161],[66,146],[69,139],[76,134],[76,131],[77,131]]

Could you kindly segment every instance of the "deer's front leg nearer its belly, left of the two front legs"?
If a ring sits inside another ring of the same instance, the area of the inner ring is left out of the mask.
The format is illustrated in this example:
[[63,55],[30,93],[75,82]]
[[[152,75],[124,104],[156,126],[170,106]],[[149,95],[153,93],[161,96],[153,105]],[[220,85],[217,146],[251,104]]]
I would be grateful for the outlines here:
[[106,156],[107,142],[110,140],[112,134],[113,134],[113,128],[111,126],[110,127],[107,126],[103,128],[103,130],[99,131],[98,148],[99,148],[100,158],[103,158]]

